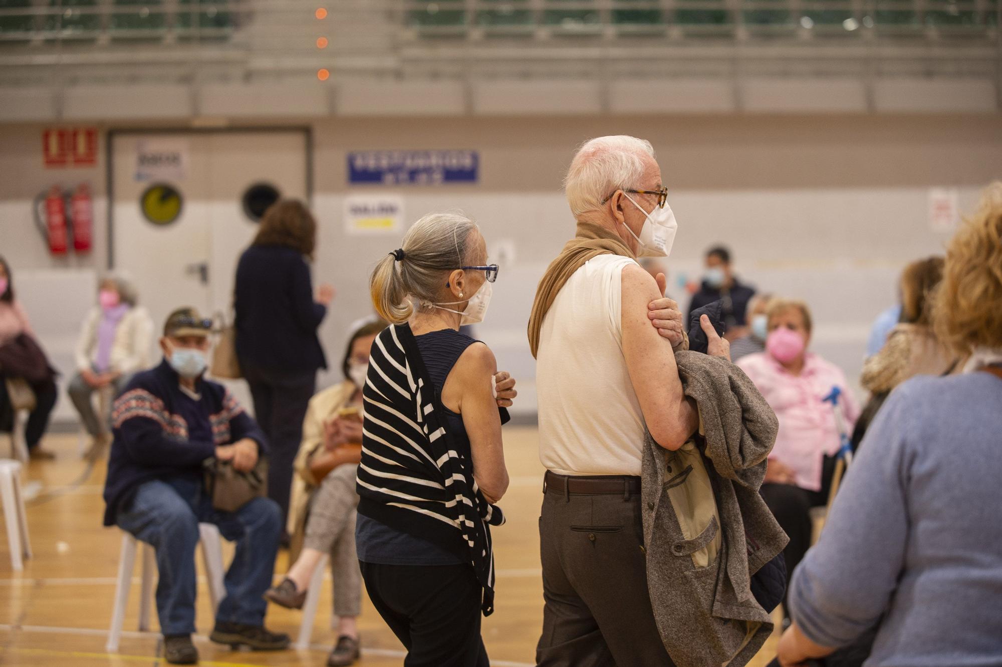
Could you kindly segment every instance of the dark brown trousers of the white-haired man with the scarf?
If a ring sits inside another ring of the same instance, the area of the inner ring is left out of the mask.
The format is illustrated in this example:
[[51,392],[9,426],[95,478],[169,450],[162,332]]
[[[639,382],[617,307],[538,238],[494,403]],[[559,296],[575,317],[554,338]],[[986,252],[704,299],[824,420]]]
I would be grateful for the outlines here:
[[647,594],[639,494],[543,494],[539,667],[673,667]]

